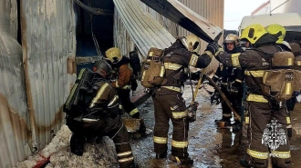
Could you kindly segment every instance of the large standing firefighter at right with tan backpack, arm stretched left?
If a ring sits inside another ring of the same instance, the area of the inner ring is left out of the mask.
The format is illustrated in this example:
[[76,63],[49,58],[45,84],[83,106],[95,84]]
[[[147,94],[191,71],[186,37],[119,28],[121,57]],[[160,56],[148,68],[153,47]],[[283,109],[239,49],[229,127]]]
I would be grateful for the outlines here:
[[275,43],[278,36],[268,34],[262,25],[247,26],[240,39],[253,46],[240,54],[228,54],[218,51],[217,44],[213,46],[222,64],[245,68],[249,145],[241,163],[246,167],[267,167],[271,156],[275,166],[290,167],[285,100],[294,90],[300,90],[300,74],[291,69],[294,54],[283,51]]

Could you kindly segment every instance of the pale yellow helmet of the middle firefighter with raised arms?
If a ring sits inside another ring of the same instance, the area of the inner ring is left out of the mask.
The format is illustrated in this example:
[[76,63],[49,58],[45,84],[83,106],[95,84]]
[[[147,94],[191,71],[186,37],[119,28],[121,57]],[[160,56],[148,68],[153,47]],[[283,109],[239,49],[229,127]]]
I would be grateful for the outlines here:
[[199,53],[201,49],[201,40],[196,35],[187,35],[182,36],[180,38],[182,44],[188,49],[190,52]]

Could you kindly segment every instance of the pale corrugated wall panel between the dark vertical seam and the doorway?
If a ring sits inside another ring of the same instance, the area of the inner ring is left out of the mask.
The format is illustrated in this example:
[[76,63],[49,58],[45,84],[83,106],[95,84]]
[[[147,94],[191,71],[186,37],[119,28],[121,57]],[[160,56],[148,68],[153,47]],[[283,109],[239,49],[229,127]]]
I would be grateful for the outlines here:
[[73,1],[21,1],[21,18],[30,145],[39,151],[63,124],[62,105],[76,78],[67,74],[67,59],[76,54]]

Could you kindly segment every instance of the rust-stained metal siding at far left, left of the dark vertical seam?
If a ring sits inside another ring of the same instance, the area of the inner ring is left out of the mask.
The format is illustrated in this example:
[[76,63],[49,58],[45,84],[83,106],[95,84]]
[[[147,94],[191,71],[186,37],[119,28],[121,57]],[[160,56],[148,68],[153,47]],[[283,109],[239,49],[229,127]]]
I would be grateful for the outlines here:
[[31,153],[22,48],[16,41],[16,0],[0,0],[0,167]]

